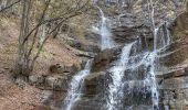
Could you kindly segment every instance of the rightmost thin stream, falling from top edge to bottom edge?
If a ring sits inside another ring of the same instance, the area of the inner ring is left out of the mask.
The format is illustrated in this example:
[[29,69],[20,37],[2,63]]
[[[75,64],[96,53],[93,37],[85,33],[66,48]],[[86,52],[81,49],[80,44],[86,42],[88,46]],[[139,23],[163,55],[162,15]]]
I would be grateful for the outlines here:
[[[153,109],[159,110],[159,92],[157,90],[157,81],[156,81],[156,69],[159,68],[157,56],[167,45],[170,43],[170,35],[167,29],[167,23],[163,23],[158,28],[155,24],[155,8],[153,0],[148,2],[148,10],[150,11],[150,20],[153,24],[153,35],[154,35],[154,50],[147,56],[147,61],[145,61],[145,66],[148,67],[147,77],[145,79],[146,84],[150,84],[152,90],[152,100],[153,100]],[[163,30],[163,31],[160,31]]]

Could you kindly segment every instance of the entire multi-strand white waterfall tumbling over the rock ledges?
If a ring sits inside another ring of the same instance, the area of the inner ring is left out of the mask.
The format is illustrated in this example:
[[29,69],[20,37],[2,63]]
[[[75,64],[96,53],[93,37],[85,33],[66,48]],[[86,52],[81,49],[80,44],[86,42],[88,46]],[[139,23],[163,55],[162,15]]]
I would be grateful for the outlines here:
[[[154,7],[152,0],[149,6]],[[112,33],[101,9],[100,12],[102,18],[101,26],[100,29],[94,28],[93,31],[102,36],[101,50],[103,51],[114,47],[115,43],[111,38]],[[160,53],[170,44],[170,33],[167,29],[167,23],[156,28],[154,8],[150,14],[154,28],[154,48],[149,51],[147,36],[144,37],[144,43],[142,43],[142,37],[138,36],[137,41],[126,44],[123,47],[119,59],[114,62],[114,66],[107,70],[112,80],[109,79],[108,81],[111,82],[107,84],[107,98],[105,97],[107,102],[105,105],[106,110],[159,110],[159,92],[157,90],[158,86],[155,76],[160,65],[158,65],[157,58],[161,56]],[[142,45],[145,45],[147,50],[143,50]],[[90,69],[91,61],[87,62],[83,70],[73,77],[64,101],[65,106],[62,110],[71,110],[73,105],[80,100],[84,85],[83,80],[90,74]],[[125,102],[125,100],[129,102]],[[139,106],[148,107],[139,108]]]

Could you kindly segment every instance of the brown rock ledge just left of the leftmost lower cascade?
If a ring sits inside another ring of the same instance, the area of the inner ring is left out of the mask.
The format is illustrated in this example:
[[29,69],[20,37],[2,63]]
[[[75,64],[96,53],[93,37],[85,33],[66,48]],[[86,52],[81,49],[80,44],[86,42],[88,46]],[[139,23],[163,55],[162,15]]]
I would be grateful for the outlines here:
[[66,91],[69,81],[74,74],[81,69],[81,66],[61,64],[51,65],[46,75],[30,75],[29,84],[43,90]]

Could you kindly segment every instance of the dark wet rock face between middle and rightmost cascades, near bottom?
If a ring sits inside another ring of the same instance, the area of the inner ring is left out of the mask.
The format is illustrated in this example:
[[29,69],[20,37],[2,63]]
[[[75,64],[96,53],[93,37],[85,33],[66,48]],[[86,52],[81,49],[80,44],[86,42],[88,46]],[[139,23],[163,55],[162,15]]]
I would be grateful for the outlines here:
[[144,80],[129,80],[124,82],[124,105],[152,105],[152,86]]

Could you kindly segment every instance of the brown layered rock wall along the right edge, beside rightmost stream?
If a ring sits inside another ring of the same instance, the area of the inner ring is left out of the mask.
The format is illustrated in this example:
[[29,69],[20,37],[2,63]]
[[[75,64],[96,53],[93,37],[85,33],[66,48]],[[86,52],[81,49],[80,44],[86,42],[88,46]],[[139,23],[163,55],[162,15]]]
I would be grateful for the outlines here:
[[157,75],[160,91],[160,105],[164,109],[187,110],[188,76],[188,12],[176,18],[170,26],[174,43],[167,47],[166,55],[160,57],[165,68]]

